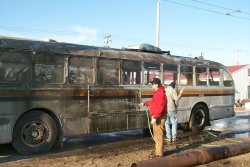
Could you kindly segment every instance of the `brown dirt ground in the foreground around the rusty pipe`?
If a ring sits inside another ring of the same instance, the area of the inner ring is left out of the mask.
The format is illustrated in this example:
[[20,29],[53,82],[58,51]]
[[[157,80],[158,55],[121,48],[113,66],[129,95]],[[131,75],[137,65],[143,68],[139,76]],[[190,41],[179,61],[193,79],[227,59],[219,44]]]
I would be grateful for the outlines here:
[[[246,139],[235,139],[220,136],[217,132],[199,134],[178,133],[178,141],[174,144],[165,143],[165,156],[181,154],[198,148],[231,145],[245,142]],[[129,167],[132,163],[147,160],[154,149],[150,137],[133,138],[118,142],[106,142],[87,147],[54,150],[37,156],[17,156],[0,162],[0,167]],[[200,167],[238,167],[250,166],[250,153],[230,157]]]

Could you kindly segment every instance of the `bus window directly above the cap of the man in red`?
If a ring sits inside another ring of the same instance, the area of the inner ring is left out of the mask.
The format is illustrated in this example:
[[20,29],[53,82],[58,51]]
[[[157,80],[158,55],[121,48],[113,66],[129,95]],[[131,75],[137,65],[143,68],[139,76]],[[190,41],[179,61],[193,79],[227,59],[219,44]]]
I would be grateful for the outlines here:
[[144,83],[149,84],[153,78],[160,78],[159,63],[144,63]]

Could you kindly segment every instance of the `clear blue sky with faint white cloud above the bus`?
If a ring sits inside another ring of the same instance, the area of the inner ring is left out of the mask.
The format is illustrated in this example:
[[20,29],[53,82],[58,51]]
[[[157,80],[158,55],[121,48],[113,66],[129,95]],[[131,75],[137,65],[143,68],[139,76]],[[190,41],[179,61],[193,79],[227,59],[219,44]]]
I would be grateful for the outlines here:
[[161,50],[250,64],[250,0],[0,0],[0,36],[156,46],[158,2]]

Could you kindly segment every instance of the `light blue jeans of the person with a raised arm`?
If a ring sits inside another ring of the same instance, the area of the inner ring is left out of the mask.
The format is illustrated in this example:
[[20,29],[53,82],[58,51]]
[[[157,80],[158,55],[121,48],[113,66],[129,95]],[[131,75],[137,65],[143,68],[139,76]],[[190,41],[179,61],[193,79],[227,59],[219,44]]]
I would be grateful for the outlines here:
[[[172,131],[170,128],[172,124]],[[165,122],[166,136],[168,139],[176,139],[177,134],[177,113],[174,111],[169,111],[167,114],[167,119]],[[171,133],[172,132],[172,133]]]

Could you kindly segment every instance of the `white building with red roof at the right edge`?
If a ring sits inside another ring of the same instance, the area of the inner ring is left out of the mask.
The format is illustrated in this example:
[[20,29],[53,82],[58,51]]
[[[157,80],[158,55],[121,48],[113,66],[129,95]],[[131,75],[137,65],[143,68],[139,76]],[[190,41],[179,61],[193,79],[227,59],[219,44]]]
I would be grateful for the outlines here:
[[235,83],[235,100],[250,98],[250,64],[227,66]]

